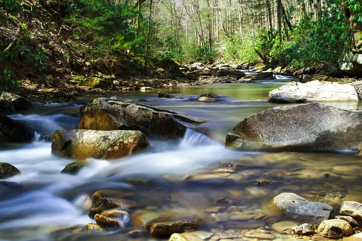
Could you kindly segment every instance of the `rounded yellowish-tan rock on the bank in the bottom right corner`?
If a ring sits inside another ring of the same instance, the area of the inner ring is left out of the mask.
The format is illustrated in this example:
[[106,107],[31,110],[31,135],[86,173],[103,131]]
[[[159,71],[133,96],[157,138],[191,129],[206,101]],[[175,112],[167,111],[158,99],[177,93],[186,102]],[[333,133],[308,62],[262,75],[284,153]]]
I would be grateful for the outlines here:
[[354,233],[351,225],[341,219],[325,220],[318,226],[317,233],[326,238],[341,238]]

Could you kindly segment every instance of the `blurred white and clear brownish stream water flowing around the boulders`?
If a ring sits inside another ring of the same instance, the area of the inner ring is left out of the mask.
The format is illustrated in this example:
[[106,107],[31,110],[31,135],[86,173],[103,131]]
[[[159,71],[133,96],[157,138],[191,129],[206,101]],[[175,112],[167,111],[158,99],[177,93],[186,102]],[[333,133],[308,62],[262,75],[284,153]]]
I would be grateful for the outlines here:
[[[49,138],[37,138],[28,144],[2,144],[1,162],[16,166],[21,175],[0,182],[0,240],[165,240],[153,238],[143,229],[139,236],[131,237],[128,232],[136,229],[132,224],[118,231],[54,233],[71,225],[84,227],[94,223],[86,211],[89,209],[87,197],[98,190],[117,191],[118,196],[136,202],[138,205],[129,210],[130,214],[148,212],[152,216],[170,211],[198,214],[205,220],[200,230],[219,236],[230,230],[240,232],[281,220],[269,210],[267,203],[285,191],[328,203],[336,209],[344,200],[361,202],[362,163],[352,150],[245,152],[224,147],[226,134],[239,121],[280,105],[268,103],[268,93],[289,81],[278,77],[258,83],[120,92],[117,95],[125,101],[202,118],[206,122],[198,130],[207,135],[187,130],[181,139],[150,137],[151,148],[147,151],[118,160],[92,159],[77,175],[60,173],[72,160],[51,155]],[[157,91],[178,98],[157,98]],[[197,102],[197,96],[205,93],[223,97],[216,103]],[[51,137],[57,129],[76,128],[80,106],[98,97],[101,96],[79,96],[79,104],[36,103],[36,108],[10,117],[34,128],[38,136]],[[358,102],[328,104],[344,109],[361,107]],[[221,162],[244,166],[220,168]],[[215,171],[218,169],[228,171]],[[253,180],[258,178],[271,182],[256,185]],[[320,181],[331,183],[333,188],[314,184]],[[222,212],[212,211],[219,197],[231,199],[235,204]],[[266,217],[254,219],[260,214]]]

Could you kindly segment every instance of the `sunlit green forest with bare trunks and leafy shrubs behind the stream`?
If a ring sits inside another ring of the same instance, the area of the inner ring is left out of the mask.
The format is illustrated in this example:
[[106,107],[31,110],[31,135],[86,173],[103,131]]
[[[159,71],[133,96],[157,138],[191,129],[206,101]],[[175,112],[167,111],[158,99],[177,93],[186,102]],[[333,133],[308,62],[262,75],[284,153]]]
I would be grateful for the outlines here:
[[2,85],[10,87],[26,77],[21,65],[58,76],[99,69],[114,74],[122,63],[147,75],[168,58],[179,64],[221,60],[333,69],[346,51],[361,51],[359,0],[3,0],[0,5]]

